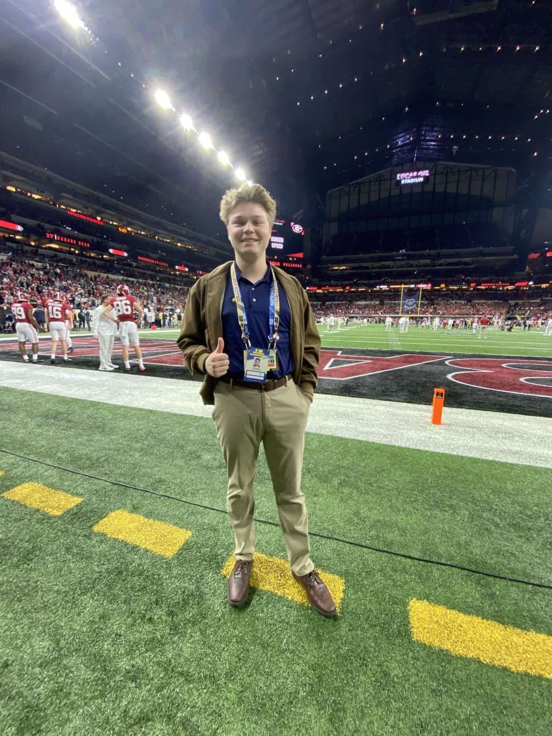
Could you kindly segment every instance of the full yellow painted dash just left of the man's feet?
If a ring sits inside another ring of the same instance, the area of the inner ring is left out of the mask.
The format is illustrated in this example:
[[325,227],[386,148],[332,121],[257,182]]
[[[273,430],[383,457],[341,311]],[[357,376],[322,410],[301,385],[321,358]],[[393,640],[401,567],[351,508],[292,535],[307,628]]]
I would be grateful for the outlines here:
[[124,509],[107,514],[92,530],[169,558],[174,557],[191,537],[188,529],[147,519],[141,514],[131,514]]

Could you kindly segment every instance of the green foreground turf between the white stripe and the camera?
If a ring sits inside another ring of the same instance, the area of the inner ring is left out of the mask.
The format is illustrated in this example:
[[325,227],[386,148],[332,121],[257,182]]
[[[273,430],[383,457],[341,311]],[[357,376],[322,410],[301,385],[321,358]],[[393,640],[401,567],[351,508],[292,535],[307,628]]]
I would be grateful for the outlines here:
[[[224,509],[212,422],[0,389],[0,445]],[[5,414],[4,414],[5,412]],[[12,734],[548,735],[552,681],[414,643],[410,598],[552,635],[551,590],[312,537],[342,616],[254,591],[226,602],[224,514],[0,453],[0,492],[85,498],[60,517],[0,498],[0,723]],[[308,434],[311,531],[552,581],[552,470]],[[261,453],[255,515],[277,520]],[[193,531],[173,559],[94,533],[116,509]],[[257,525],[258,551],[285,556]]]

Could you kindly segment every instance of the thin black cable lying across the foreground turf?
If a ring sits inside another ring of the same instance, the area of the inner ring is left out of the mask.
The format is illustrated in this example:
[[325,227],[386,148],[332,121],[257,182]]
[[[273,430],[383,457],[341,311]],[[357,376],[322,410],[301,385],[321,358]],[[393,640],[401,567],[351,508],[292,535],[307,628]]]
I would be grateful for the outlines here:
[[[6,455],[13,455],[16,458],[22,460],[28,460],[29,462],[35,462],[40,465],[47,465],[48,467],[54,467],[56,470],[63,470],[66,473],[74,473],[74,475],[83,475],[85,478],[93,478],[95,481],[102,481],[102,483],[109,483],[113,486],[121,486],[122,488],[130,488],[133,491],[142,491],[144,493],[151,493],[154,496],[160,496],[160,498],[170,498],[174,501],[180,501],[180,503],[187,503],[188,506],[197,506],[199,509],[209,509],[209,511],[216,511],[219,514],[227,514],[226,509],[219,509],[217,506],[207,506],[205,503],[197,503],[197,501],[191,501],[187,498],[178,498],[178,496],[171,496],[169,493],[160,493],[158,491],[152,491],[149,488],[141,488],[140,486],[131,486],[128,483],[121,483],[120,481],[110,481],[109,478],[100,478],[99,475],[93,475],[92,473],[83,473],[82,470],[73,470],[70,467],[62,467],[61,465],[55,465],[51,462],[44,460],[37,460],[36,458],[29,458],[26,455],[20,455],[19,453],[13,453],[11,450],[4,450],[4,447],[0,447],[0,453],[6,453]],[[277,526],[280,524],[275,521],[268,521],[266,519],[257,519],[254,517],[254,521],[259,524],[267,524],[269,526]],[[426,559],[425,557],[417,557],[406,552],[395,552],[394,550],[386,550],[381,547],[374,547],[372,545],[366,545],[364,542],[353,542],[350,539],[342,539],[341,537],[331,537],[329,534],[320,534],[317,531],[309,531],[309,537],[319,537],[320,539],[330,539],[331,542],[342,542],[344,545],[350,545],[351,547],[361,547],[363,549],[372,550],[374,552],[382,552],[384,554],[390,554],[395,557],[403,557],[404,559],[412,559],[415,562],[425,562],[428,565],[441,565],[442,567],[453,567],[455,570],[464,570],[467,573],[474,573],[475,575],[483,575],[487,578],[497,578],[498,580],[506,580],[510,583],[522,583],[523,585],[531,585],[537,588],[548,588],[552,590],[551,583],[539,583],[533,580],[523,580],[523,578],[512,578],[507,575],[499,575],[498,573],[487,573],[486,570],[477,570],[475,567],[464,567],[464,565],[456,565],[455,562],[442,562],[438,559]]]

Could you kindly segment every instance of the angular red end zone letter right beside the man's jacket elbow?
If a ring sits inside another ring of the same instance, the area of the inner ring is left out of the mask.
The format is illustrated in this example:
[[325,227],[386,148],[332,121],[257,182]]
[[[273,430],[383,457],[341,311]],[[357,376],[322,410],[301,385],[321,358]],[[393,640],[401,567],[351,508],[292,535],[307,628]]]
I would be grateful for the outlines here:
[[[331,378],[333,381],[347,381],[372,373],[383,373],[410,366],[443,361],[447,355],[392,355],[389,358],[365,358],[363,355],[343,355],[341,350],[320,350],[318,378]],[[347,361],[346,365],[335,365],[333,361]]]

